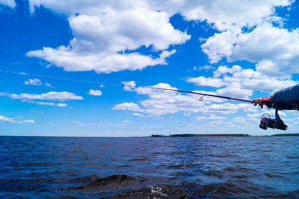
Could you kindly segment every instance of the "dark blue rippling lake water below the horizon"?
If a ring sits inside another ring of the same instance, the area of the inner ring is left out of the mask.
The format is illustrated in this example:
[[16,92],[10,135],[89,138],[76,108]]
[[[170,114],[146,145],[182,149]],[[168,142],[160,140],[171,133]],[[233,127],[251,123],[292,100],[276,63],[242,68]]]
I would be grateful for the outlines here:
[[299,137],[0,137],[0,199],[299,199]]

